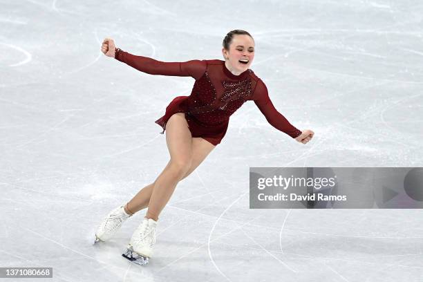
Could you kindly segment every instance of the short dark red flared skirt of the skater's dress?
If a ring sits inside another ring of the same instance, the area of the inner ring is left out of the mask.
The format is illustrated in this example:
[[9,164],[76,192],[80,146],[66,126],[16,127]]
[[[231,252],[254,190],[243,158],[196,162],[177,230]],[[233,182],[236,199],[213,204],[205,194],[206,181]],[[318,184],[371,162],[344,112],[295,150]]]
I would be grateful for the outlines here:
[[194,115],[189,112],[188,109],[189,96],[178,96],[170,102],[166,107],[166,112],[156,120],[156,124],[162,126],[162,134],[166,130],[166,124],[169,118],[175,113],[185,113],[185,119],[187,120],[189,131],[191,131],[192,137],[200,137],[216,146],[221,142],[226,134],[229,120],[220,124],[204,124],[198,121]]

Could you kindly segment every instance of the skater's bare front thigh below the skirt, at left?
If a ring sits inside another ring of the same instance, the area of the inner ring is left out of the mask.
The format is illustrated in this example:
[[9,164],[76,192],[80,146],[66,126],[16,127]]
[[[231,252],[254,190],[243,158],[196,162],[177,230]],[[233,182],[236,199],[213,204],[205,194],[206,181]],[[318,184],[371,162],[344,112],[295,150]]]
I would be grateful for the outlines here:
[[192,158],[192,136],[184,113],[175,113],[167,121],[166,143],[170,162],[189,167]]

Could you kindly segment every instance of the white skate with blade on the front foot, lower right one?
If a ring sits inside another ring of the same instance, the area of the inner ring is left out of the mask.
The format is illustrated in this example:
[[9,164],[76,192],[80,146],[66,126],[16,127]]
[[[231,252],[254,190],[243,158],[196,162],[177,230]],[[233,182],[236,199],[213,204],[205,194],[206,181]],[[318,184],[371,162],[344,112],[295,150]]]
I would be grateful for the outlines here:
[[157,222],[151,218],[144,218],[140,226],[133,232],[131,241],[122,254],[125,259],[139,265],[147,265],[153,255],[154,243],[156,243]]

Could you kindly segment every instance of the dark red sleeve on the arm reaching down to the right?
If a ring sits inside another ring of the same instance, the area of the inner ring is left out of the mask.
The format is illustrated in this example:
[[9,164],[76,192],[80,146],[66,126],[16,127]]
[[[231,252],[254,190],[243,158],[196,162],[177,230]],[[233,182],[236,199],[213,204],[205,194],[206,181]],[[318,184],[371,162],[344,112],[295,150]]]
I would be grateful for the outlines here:
[[290,124],[290,122],[274,108],[269,93],[267,92],[267,87],[261,79],[257,82],[253,100],[261,113],[265,116],[267,122],[272,124],[274,128],[287,133],[292,138],[301,135],[302,132]]

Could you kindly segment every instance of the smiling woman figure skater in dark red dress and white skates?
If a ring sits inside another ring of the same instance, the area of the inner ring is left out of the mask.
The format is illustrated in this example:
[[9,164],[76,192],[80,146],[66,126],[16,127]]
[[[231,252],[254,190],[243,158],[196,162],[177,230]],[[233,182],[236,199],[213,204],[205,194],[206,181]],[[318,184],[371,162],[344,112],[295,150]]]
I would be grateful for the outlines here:
[[175,97],[156,123],[166,131],[170,160],[153,183],[141,189],[126,205],[113,209],[100,223],[95,243],[107,241],[122,223],[141,209],[147,214],[135,229],[122,256],[141,265],[147,264],[156,243],[156,225],[160,212],[171,198],[180,180],[205,160],[225,136],[229,117],[245,102],[252,100],[267,122],[279,131],[306,144],[314,132],[300,131],[276,111],[263,81],[249,68],[254,59],[254,39],[245,30],[232,30],[223,39],[219,59],[194,59],[187,62],[160,62],[149,57],[131,55],[115,48],[106,38],[102,52],[151,75],[193,77],[196,82],[189,96]]

